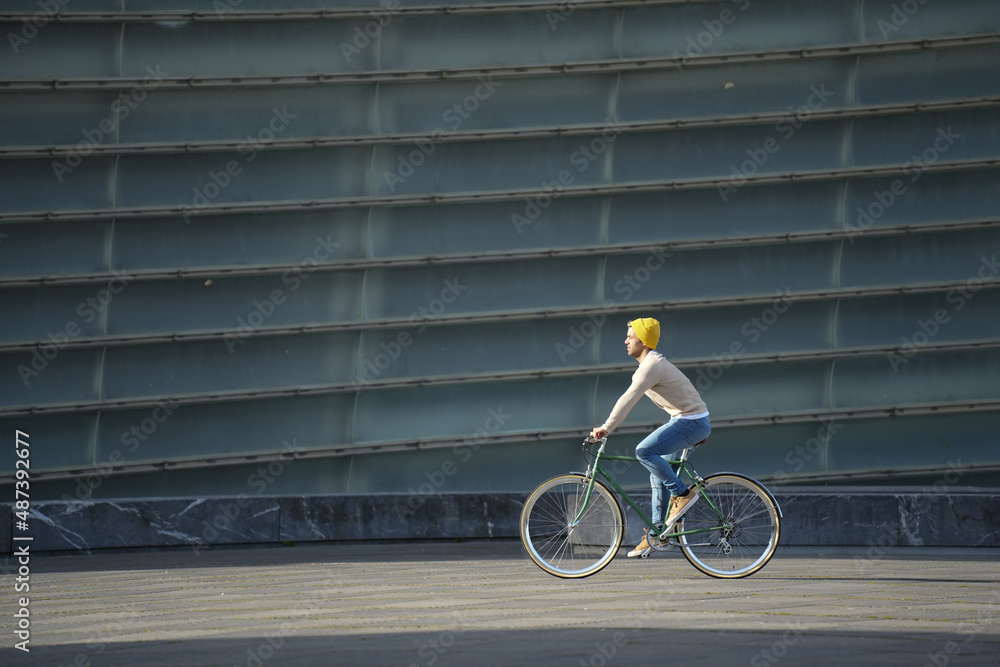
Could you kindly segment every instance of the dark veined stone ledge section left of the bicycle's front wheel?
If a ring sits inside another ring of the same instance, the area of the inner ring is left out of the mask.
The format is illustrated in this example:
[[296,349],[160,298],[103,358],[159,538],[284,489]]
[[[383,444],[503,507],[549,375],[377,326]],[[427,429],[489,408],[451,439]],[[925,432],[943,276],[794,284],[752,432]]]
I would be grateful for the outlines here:
[[34,552],[511,537],[523,500],[461,493],[36,501],[27,531],[12,527],[10,505],[0,507],[0,553],[11,553],[12,532],[30,536]]

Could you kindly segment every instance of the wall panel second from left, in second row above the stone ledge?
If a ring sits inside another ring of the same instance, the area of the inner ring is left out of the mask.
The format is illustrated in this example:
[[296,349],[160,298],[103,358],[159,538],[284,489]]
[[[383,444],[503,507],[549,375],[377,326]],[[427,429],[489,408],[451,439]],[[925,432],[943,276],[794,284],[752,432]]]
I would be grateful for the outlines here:
[[101,415],[96,460],[162,461],[283,451],[348,442],[354,397],[344,394],[247,403],[157,406]]

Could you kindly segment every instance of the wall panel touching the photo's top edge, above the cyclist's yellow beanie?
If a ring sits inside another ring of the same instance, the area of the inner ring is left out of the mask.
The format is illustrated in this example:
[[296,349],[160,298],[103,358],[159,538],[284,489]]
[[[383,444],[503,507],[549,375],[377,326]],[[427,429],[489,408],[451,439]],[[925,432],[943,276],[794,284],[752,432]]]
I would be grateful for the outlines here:
[[697,3],[630,8],[624,57],[693,57],[856,41],[854,12],[842,0]]

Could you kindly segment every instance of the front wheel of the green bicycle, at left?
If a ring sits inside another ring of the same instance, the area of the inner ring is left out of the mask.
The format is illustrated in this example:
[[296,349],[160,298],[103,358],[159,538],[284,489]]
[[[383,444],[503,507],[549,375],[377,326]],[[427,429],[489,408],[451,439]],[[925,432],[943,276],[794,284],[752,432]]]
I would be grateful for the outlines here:
[[[521,511],[521,543],[549,574],[564,578],[600,572],[618,553],[625,517],[611,491],[583,475],[554,477],[535,489]],[[581,511],[582,509],[582,511]]]

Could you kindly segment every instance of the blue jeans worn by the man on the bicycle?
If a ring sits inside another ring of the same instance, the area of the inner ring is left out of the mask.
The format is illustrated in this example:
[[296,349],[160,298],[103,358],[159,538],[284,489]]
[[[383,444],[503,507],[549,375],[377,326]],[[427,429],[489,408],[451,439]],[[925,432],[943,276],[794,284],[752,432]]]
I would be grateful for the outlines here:
[[635,447],[636,458],[649,471],[649,485],[653,493],[653,523],[666,521],[667,507],[663,503],[663,489],[672,496],[687,491],[687,485],[677,476],[668,458],[675,458],[681,450],[701,442],[712,432],[708,417],[679,419],[673,417],[656,429]]

